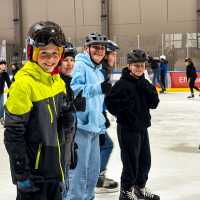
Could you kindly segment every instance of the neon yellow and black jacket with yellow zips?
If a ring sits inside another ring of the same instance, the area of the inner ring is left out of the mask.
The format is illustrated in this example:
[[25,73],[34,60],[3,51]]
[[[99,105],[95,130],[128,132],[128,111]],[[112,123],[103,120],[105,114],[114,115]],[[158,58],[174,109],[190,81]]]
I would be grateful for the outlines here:
[[15,76],[5,104],[4,143],[13,182],[30,177],[63,181],[65,83],[27,62]]

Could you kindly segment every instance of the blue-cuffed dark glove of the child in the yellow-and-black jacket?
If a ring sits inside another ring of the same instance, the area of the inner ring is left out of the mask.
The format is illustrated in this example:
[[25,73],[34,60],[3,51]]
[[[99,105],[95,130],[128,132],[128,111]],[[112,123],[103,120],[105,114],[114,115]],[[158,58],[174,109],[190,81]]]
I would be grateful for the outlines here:
[[21,192],[38,192],[40,188],[36,187],[30,179],[24,181],[17,181],[17,188]]

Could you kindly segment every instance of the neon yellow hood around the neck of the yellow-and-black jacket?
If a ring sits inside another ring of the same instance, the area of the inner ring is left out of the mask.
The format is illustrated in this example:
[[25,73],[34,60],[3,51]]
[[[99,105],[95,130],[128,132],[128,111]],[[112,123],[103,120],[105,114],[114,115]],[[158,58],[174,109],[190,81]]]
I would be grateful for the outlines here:
[[51,85],[55,79],[59,77],[58,74],[50,74],[45,72],[37,63],[28,61],[15,75],[15,80],[24,75],[29,75],[34,79],[41,81],[47,85]]

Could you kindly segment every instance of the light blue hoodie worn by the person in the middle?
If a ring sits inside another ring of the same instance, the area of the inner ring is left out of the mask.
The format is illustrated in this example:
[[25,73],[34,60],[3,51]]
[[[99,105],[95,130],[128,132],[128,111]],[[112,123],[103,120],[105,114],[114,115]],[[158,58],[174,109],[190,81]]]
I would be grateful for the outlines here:
[[78,128],[92,133],[105,132],[105,118],[102,114],[104,95],[101,82],[104,81],[101,65],[95,65],[88,53],[76,56],[72,73],[71,88],[77,95],[81,90],[86,97],[86,111],[77,112]]

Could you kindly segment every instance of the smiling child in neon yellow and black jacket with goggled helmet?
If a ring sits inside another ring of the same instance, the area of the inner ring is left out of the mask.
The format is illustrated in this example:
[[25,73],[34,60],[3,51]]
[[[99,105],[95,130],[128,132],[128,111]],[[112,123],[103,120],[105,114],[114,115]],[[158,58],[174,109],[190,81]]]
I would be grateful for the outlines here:
[[[66,88],[58,74],[65,36],[41,21],[27,35],[28,62],[18,71],[5,104],[4,143],[17,200],[62,200]],[[72,125],[70,125],[72,126]]]

